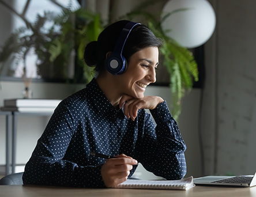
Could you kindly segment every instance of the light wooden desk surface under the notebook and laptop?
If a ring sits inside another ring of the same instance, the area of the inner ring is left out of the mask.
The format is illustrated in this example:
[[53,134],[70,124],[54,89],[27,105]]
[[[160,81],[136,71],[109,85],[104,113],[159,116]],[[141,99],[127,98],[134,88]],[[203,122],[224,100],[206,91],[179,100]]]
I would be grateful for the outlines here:
[[134,190],[134,189],[90,189],[90,188],[67,188],[67,187],[49,187],[35,185],[0,185],[0,196],[3,197],[41,197],[41,196],[74,196],[74,197],[136,197],[136,196],[179,196],[179,197],[241,197],[256,196],[256,187],[238,188],[238,187],[206,187],[195,186],[187,191],[181,190]]

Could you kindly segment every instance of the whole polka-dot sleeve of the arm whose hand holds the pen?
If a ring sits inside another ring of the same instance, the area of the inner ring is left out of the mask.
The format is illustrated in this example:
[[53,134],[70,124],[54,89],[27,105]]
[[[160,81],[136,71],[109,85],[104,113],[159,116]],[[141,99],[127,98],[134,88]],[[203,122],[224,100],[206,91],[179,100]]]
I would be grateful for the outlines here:
[[55,109],[25,166],[24,184],[105,187],[101,166],[80,166],[65,160],[65,153],[76,132],[76,123],[72,109],[66,105]]

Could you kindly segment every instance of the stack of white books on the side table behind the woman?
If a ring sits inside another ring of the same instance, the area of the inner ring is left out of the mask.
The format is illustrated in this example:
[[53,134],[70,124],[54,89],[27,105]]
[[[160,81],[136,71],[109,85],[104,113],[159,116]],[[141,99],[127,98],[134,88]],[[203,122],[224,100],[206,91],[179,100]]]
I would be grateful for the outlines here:
[[2,111],[54,112],[61,102],[57,99],[6,99]]

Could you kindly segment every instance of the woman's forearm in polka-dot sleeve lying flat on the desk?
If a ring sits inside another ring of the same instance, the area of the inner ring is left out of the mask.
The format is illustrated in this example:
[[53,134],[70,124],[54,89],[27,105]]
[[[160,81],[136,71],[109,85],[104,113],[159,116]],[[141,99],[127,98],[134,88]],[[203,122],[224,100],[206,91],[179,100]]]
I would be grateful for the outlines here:
[[24,184],[62,185],[69,187],[104,187],[101,166],[78,166],[48,157],[31,158],[25,166]]

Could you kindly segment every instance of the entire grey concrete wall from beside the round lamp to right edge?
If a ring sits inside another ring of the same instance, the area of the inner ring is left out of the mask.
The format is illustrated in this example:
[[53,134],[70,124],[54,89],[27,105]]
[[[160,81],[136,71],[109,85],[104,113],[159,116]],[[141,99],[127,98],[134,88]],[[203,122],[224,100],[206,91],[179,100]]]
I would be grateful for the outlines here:
[[217,28],[206,44],[206,174],[255,173],[256,60],[253,0],[210,1]]

